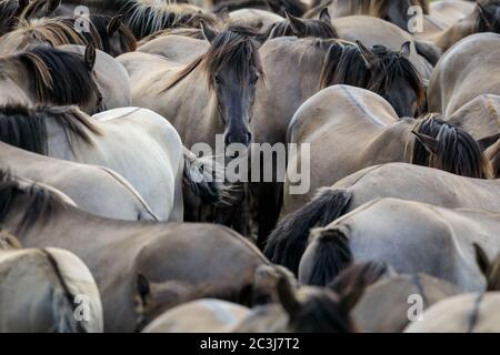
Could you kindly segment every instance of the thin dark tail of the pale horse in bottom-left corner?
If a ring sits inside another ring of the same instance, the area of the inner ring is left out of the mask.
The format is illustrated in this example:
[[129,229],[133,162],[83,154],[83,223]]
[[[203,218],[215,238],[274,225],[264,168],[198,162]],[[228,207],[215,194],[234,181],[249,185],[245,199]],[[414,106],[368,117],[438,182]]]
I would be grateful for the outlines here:
[[60,288],[52,291],[52,315],[53,325],[52,333],[88,333],[87,328],[77,321],[74,295],[71,293],[68,284],[62,276],[62,272],[59,268],[59,264],[47,248],[42,248],[41,252],[47,256],[56,277],[59,281]]

